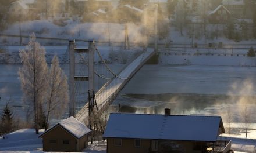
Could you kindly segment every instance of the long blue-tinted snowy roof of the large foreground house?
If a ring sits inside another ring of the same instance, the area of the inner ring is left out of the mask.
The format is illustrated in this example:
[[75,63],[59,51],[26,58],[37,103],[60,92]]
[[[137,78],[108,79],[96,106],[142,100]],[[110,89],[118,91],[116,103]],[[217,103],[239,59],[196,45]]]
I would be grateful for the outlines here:
[[214,142],[224,132],[219,116],[114,113],[103,137]]

